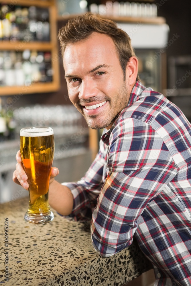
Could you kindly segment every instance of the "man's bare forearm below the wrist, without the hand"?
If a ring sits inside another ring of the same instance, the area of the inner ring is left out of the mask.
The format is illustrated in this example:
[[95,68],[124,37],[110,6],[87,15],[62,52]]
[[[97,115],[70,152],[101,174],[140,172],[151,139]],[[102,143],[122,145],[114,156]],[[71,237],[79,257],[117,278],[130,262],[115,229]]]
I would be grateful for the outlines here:
[[68,187],[54,180],[49,186],[49,203],[60,215],[70,215],[74,198]]

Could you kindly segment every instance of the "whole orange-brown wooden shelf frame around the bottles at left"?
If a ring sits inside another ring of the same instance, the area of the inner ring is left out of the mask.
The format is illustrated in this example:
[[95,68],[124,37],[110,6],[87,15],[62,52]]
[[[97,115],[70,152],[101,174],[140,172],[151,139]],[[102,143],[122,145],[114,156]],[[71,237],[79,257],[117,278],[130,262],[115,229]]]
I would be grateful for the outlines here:
[[0,50],[7,51],[13,50],[16,52],[23,51],[25,49],[37,50],[37,51],[50,51],[52,55],[52,69],[53,80],[52,82],[39,82],[33,83],[31,86],[0,86],[1,95],[13,95],[19,94],[33,94],[33,93],[45,93],[58,91],[60,88],[59,77],[59,55],[57,49],[57,27],[56,27],[56,0],[0,0],[3,4],[21,5],[21,6],[37,6],[49,8],[49,22],[50,22],[50,42],[25,42],[23,41],[0,41]]

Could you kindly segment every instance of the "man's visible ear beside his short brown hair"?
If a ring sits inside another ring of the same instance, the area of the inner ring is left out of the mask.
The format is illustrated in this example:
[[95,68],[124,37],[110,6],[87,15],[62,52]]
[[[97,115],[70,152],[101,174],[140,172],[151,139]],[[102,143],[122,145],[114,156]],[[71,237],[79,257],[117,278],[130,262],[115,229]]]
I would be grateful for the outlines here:
[[126,80],[129,86],[134,86],[138,73],[137,57],[130,57],[126,66]]

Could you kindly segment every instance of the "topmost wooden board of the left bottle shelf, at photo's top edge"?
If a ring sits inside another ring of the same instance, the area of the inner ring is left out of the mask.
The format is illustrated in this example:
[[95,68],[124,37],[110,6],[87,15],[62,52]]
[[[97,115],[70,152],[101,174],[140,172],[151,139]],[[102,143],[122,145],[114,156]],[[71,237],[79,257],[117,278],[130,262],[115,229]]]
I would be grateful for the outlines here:
[[[16,2],[16,3],[15,3]],[[2,4],[21,5],[21,6],[37,6],[37,7],[50,7],[54,4],[52,0],[0,0]]]

